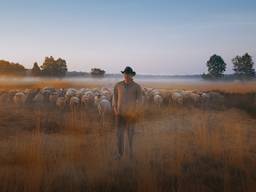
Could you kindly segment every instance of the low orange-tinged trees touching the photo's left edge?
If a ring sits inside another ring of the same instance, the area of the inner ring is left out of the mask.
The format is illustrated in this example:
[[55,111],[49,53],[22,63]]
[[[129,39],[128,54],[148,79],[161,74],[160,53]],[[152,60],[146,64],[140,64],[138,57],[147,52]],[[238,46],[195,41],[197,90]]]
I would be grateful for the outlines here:
[[0,74],[3,75],[25,75],[26,69],[19,63],[12,63],[5,60],[0,60]]

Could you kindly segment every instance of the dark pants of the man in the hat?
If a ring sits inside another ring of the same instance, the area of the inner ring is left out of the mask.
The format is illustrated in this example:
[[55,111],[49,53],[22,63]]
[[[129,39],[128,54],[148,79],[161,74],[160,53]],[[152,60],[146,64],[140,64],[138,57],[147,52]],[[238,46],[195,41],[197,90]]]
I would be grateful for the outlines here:
[[124,153],[124,133],[125,130],[128,132],[129,142],[129,156],[133,155],[133,135],[134,135],[135,120],[122,115],[116,115],[116,129],[117,129],[117,148],[120,156]]

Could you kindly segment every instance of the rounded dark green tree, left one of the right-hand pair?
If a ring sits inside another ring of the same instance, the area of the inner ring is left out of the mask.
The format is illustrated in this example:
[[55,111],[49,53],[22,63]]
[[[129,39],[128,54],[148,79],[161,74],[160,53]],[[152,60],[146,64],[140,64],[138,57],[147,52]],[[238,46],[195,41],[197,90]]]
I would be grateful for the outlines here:
[[224,71],[226,70],[226,63],[219,55],[213,55],[207,61],[208,74],[204,74],[203,77],[217,79],[223,76]]

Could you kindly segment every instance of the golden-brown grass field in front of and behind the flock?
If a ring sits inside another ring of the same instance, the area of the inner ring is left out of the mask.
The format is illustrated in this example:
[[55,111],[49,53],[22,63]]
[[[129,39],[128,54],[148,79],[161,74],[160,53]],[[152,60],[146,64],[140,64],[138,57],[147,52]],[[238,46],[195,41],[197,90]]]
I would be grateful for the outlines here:
[[[255,83],[159,84],[159,89],[253,92]],[[99,87],[49,80],[2,89]],[[116,129],[93,114],[1,105],[0,191],[256,190],[256,118],[237,108],[147,108],[134,157],[115,160]],[[127,136],[127,135],[126,135]],[[126,137],[127,143],[127,137]]]

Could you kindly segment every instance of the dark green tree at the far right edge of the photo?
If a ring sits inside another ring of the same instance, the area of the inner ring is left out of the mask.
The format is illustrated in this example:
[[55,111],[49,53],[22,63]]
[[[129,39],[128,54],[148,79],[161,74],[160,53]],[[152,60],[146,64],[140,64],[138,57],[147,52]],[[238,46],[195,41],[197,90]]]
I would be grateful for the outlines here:
[[232,63],[234,65],[233,70],[235,71],[235,76],[239,79],[250,79],[255,76],[254,63],[248,53],[245,53],[243,56],[236,56],[232,59]]

